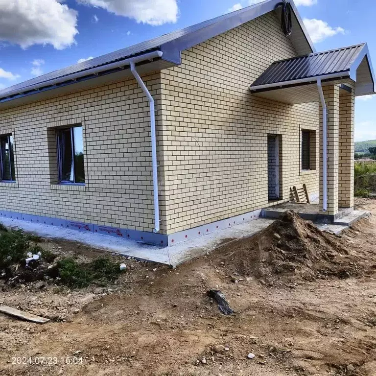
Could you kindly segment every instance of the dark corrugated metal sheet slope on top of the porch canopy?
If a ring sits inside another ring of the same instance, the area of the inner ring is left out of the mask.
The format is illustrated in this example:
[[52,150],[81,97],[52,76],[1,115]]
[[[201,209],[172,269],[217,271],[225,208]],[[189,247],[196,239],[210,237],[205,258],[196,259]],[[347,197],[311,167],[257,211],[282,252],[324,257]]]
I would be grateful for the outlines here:
[[364,47],[366,47],[365,43],[276,61],[251,85],[251,90],[262,85],[288,83],[333,73],[349,72],[350,75],[352,65],[361,55]]

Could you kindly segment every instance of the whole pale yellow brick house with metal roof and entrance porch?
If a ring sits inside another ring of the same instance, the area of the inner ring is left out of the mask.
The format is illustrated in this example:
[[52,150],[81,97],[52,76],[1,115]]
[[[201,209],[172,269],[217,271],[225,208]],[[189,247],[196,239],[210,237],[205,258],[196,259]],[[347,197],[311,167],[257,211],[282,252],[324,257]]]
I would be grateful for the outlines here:
[[280,5],[1,90],[0,215],[172,245],[303,183],[323,214],[351,210],[354,97],[375,93],[367,46],[316,53],[292,1],[286,36]]

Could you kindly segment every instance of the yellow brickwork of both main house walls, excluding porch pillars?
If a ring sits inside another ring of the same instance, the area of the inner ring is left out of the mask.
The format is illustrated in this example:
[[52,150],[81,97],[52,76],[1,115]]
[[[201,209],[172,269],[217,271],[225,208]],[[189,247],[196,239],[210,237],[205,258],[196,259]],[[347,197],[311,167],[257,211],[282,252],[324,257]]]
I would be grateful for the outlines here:
[[[275,14],[182,53],[182,64],[142,78],[156,100],[161,231],[171,234],[271,205],[267,134],[280,135],[281,202],[290,187],[318,190],[301,171],[300,130],[318,130],[318,104],[253,96],[275,60],[296,56]],[[56,184],[54,128],[81,122],[86,186]],[[0,112],[14,129],[17,184],[0,185],[1,209],[152,231],[149,107],[135,80]],[[12,131],[13,133],[13,131]]]

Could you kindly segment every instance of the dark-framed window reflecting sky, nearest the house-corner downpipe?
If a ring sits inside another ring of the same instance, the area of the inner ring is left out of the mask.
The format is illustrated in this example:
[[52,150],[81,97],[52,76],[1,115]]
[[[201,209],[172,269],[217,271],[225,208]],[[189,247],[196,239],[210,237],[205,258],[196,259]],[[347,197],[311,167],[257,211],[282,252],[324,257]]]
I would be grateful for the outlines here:
[[82,126],[57,130],[57,162],[60,183],[85,184]]

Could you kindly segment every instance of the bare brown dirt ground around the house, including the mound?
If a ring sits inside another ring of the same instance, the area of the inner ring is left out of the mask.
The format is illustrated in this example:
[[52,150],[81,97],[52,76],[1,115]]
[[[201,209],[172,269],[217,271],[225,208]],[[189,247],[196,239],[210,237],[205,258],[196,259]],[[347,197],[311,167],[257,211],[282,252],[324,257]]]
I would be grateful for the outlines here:
[[290,218],[175,270],[119,257],[127,271],[106,287],[0,286],[0,303],[51,318],[0,314],[0,375],[375,376],[376,200],[357,206],[373,215],[341,238]]

